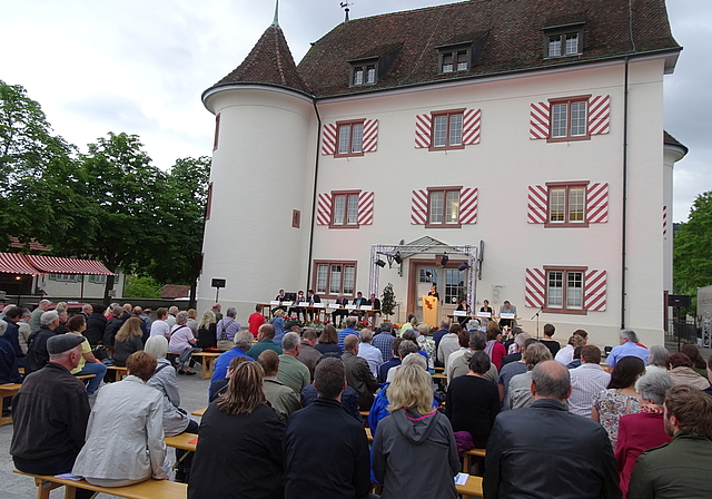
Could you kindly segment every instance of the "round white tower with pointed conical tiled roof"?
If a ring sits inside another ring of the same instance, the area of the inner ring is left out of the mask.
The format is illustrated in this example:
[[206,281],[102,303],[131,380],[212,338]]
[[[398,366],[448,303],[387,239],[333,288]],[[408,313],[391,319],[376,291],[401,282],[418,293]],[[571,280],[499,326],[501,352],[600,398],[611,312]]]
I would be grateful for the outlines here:
[[224,278],[224,312],[245,323],[256,302],[304,288],[308,265],[316,117],[276,19],[202,102],[216,130],[198,306]]

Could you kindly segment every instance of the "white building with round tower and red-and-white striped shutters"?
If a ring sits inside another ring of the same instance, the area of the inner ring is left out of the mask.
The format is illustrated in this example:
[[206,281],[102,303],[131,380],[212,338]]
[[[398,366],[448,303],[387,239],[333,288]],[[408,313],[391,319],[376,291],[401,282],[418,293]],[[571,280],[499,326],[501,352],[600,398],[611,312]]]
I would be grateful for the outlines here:
[[462,294],[477,310],[508,300],[532,333],[541,310],[560,340],[583,327],[616,344],[623,325],[661,343],[686,150],[663,140],[663,76],[681,48],[663,0],[634,7],[355,19],[299,66],[275,21],[202,95],[216,134],[199,306],[215,277],[243,317],[279,288],[330,300],[393,283],[404,320],[433,282],[445,312]]

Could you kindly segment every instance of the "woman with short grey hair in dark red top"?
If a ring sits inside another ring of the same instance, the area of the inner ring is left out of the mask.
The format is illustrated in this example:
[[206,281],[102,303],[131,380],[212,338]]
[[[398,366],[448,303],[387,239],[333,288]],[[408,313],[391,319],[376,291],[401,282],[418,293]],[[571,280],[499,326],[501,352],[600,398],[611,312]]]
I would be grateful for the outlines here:
[[637,457],[647,449],[662,446],[671,440],[671,437],[665,432],[663,403],[665,402],[665,392],[672,385],[672,379],[665,372],[651,372],[641,376],[635,383],[635,390],[641,395],[641,412],[623,415],[619,420],[615,458],[621,473],[620,486],[623,497],[627,493],[631,473]]

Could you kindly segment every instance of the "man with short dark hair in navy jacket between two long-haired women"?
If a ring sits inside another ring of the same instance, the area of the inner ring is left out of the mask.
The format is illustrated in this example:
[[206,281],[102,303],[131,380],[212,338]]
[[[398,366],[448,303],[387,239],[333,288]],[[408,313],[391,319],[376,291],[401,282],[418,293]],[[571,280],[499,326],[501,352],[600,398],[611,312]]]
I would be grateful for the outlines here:
[[[327,358],[319,362],[314,384],[318,399],[287,421],[285,499],[366,498],[370,488],[368,441],[363,423],[339,403],[346,389],[342,361]],[[328,469],[317,472],[325,463]]]

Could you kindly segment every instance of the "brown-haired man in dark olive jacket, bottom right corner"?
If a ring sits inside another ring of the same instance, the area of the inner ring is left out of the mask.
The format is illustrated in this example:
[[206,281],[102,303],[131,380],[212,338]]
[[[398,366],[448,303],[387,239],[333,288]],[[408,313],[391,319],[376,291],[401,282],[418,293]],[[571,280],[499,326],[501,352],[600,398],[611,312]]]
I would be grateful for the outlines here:
[[665,395],[664,422],[672,441],[637,458],[627,498],[709,498],[712,397],[684,384],[671,388]]

